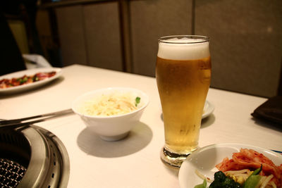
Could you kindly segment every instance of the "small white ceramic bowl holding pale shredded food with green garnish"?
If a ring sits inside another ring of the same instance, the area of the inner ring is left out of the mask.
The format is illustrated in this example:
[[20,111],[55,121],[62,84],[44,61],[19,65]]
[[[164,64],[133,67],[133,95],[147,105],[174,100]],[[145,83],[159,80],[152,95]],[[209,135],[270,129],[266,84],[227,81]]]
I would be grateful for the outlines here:
[[[111,116],[99,116],[99,115],[85,115],[80,113],[80,106],[89,99],[102,96],[102,94],[111,94],[114,92],[126,92],[133,94],[133,96],[139,96],[141,98],[141,106],[137,110],[122,115]],[[149,103],[149,96],[144,92],[127,87],[109,87],[104,89],[97,89],[92,92],[87,92],[78,96],[73,101],[73,111],[80,115],[80,118],[84,121],[85,125],[92,130],[95,134],[98,134],[102,139],[106,141],[116,141],[123,139],[128,135],[133,126],[140,120],[141,115]]]

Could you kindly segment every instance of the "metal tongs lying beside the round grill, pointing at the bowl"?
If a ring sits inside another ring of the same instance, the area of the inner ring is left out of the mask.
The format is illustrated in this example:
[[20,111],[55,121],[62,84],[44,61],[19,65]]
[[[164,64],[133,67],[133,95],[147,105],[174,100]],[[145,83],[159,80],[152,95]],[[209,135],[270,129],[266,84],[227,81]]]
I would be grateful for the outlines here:
[[[11,128],[16,128],[16,127],[22,127],[25,125],[31,125],[33,123],[39,123],[42,121],[46,121],[52,118],[59,117],[61,115],[66,115],[68,113],[73,113],[72,109],[67,109],[63,111],[57,111],[53,113],[45,113],[42,115],[34,115],[31,117],[27,118],[19,118],[19,119],[13,119],[13,120],[0,120],[0,128],[1,127],[11,127]],[[45,118],[46,117],[46,118]],[[37,120],[32,120],[32,119],[37,119]],[[27,121],[30,120],[30,121]],[[25,122],[27,121],[27,122]]]

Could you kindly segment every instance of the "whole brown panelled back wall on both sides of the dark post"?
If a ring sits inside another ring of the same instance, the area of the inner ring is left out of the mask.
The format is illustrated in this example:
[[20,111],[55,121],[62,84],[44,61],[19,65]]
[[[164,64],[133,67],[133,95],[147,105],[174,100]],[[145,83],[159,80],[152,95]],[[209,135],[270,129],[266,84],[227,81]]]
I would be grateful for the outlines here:
[[[282,60],[281,0],[128,2],[133,73],[154,76],[159,37],[207,35],[212,87],[276,95]],[[117,1],[56,8],[56,13],[64,65],[123,70]]]

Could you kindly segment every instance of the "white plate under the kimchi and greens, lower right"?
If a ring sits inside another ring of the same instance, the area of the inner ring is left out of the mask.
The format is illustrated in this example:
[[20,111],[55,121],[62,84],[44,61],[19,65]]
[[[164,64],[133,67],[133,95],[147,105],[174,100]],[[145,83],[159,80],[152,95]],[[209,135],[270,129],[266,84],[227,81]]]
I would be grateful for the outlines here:
[[220,163],[226,156],[232,158],[234,152],[239,152],[240,149],[253,149],[259,153],[264,154],[267,158],[274,162],[275,165],[282,163],[282,155],[269,149],[263,149],[258,146],[247,144],[214,144],[197,149],[190,154],[180,167],[178,180],[181,188],[192,188],[197,184],[202,184],[202,180],[196,173],[198,170],[202,175],[214,180],[214,173],[217,168],[215,165]]

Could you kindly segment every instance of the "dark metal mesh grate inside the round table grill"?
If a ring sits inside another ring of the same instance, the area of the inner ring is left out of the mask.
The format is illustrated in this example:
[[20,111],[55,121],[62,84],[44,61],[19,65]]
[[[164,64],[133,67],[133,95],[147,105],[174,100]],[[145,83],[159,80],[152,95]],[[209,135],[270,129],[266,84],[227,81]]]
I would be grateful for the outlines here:
[[0,158],[0,187],[16,187],[25,175],[26,168],[15,161]]

